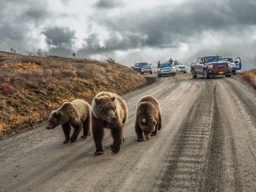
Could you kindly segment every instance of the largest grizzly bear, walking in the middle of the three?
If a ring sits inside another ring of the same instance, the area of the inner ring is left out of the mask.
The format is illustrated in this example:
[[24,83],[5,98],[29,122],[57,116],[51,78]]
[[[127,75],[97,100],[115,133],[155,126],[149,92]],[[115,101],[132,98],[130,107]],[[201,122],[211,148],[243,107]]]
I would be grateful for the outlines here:
[[111,154],[117,154],[124,141],[124,127],[128,117],[127,106],[120,96],[111,92],[100,92],[92,101],[92,134],[96,155],[104,154],[102,142],[104,128],[111,130],[113,144]]

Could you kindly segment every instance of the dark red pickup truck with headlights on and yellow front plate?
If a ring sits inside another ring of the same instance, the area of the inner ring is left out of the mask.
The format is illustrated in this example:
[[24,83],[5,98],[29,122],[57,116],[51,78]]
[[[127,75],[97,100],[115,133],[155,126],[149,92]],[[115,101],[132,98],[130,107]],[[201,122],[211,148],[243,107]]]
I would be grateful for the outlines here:
[[201,56],[196,62],[190,64],[190,72],[193,78],[197,75],[203,75],[205,79],[218,75],[231,77],[232,68],[231,63],[225,61],[222,56]]

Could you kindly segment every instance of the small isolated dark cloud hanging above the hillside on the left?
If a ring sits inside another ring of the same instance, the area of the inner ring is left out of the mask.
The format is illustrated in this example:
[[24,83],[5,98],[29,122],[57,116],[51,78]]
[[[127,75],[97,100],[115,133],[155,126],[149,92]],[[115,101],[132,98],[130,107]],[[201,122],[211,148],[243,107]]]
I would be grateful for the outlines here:
[[76,38],[76,32],[69,28],[46,28],[42,33],[47,37],[48,44],[57,46],[61,44],[71,45],[72,41]]

